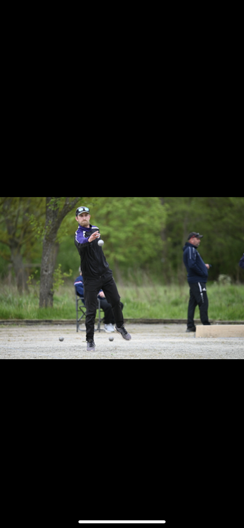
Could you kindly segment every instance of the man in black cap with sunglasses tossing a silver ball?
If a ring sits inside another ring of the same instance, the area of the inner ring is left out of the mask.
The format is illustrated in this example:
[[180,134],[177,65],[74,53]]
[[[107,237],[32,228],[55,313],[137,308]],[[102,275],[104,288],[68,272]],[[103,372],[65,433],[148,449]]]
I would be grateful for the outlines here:
[[95,350],[94,323],[97,309],[98,292],[102,289],[105,297],[113,308],[115,330],[129,341],[131,335],[124,328],[124,318],[120,303],[120,295],[113,279],[112,270],[108,266],[101,246],[98,246],[100,233],[96,225],[91,225],[89,208],[78,207],[75,219],[79,227],[75,232],[75,246],[79,251],[80,268],[84,279],[84,300],[86,305],[86,341],[87,351]]

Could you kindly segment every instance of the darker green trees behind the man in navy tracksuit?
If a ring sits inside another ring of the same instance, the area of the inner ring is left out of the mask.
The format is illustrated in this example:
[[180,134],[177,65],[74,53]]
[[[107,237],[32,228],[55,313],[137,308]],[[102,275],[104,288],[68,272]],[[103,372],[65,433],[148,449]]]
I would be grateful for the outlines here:
[[244,198],[174,197],[162,202],[168,207],[163,232],[166,280],[186,279],[182,248],[191,231],[204,235],[198,251],[205,263],[212,264],[210,280],[221,274],[233,280],[244,278],[238,267],[244,252]]

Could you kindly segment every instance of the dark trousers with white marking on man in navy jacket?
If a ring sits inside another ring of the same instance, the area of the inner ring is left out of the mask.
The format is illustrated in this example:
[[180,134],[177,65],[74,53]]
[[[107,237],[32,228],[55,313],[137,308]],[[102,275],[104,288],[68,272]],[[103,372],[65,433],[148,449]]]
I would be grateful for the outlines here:
[[210,325],[207,315],[208,298],[206,283],[195,282],[195,284],[189,284],[189,287],[190,298],[188,303],[187,327],[195,328],[194,314],[196,306],[199,306],[200,320],[203,325]]

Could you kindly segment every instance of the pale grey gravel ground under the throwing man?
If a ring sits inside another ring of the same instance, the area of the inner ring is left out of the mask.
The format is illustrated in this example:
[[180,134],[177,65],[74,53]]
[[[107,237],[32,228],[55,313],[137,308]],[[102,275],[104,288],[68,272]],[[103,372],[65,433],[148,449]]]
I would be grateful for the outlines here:
[[244,359],[244,338],[195,338],[180,324],[126,328],[131,341],[117,332],[114,341],[104,331],[95,332],[96,351],[86,352],[86,334],[76,332],[75,325],[2,325],[0,359]]

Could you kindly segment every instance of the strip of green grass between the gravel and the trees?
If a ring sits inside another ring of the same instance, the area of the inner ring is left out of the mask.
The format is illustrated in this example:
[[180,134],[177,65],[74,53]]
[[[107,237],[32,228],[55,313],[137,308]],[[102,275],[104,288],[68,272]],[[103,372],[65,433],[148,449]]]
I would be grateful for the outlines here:
[[[148,287],[127,285],[118,287],[124,303],[124,318],[186,319],[188,285]],[[2,284],[0,289],[0,319],[75,319],[73,283],[60,287],[54,295],[53,308],[39,308],[39,291],[19,295],[15,287]],[[244,285],[207,284],[208,315],[214,320],[244,320]],[[199,310],[195,310],[199,318]]]

